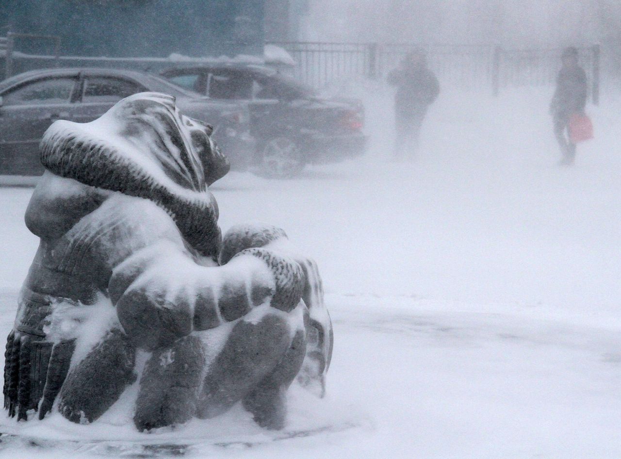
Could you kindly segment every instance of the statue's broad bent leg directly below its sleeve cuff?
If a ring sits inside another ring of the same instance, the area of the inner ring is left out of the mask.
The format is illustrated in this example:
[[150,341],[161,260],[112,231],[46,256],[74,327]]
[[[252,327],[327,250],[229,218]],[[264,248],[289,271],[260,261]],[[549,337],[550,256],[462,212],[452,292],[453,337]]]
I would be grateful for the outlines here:
[[209,366],[197,416],[218,416],[255,389],[287,352],[290,330],[286,316],[275,312],[268,312],[257,322],[241,320],[235,324]]

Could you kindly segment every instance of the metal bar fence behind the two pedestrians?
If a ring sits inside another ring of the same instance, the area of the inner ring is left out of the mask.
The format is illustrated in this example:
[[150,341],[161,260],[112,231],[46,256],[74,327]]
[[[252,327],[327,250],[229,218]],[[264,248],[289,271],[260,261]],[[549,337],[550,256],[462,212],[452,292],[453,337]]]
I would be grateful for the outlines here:
[[[560,68],[560,49],[511,50],[493,45],[274,42],[296,61],[294,76],[315,88],[342,80],[382,79],[406,53],[422,49],[442,84],[484,89],[494,95],[517,86],[552,84]],[[600,48],[579,48],[593,101],[599,101]]]

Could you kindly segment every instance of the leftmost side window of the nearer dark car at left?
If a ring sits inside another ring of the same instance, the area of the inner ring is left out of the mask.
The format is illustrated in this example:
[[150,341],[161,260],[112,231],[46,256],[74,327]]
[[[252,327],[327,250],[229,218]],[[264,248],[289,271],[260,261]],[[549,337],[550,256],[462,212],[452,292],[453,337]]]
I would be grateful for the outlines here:
[[74,78],[45,78],[26,83],[19,88],[2,94],[2,104],[37,105],[66,104],[70,102],[71,91],[76,80]]

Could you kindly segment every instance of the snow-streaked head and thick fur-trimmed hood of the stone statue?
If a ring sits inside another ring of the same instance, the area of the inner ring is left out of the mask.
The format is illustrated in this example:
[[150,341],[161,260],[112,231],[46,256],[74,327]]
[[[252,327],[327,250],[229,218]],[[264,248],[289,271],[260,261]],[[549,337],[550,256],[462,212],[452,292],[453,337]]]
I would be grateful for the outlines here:
[[155,202],[190,245],[215,258],[218,208],[207,186],[230,165],[209,134],[211,127],[183,116],[172,96],[140,93],[92,122],[54,122],[43,135],[41,161],[57,176]]

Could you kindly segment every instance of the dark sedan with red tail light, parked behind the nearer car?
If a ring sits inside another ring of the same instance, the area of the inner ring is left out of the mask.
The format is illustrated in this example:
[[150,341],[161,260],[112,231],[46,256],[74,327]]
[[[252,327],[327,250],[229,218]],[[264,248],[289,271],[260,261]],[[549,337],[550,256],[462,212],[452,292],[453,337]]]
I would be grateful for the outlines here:
[[236,101],[250,111],[252,157],[232,157],[233,166],[258,165],[271,175],[293,175],[305,163],[325,163],[365,151],[360,101],[319,98],[277,71],[243,63],[205,63],[161,72],[172,83],[216,101]]

